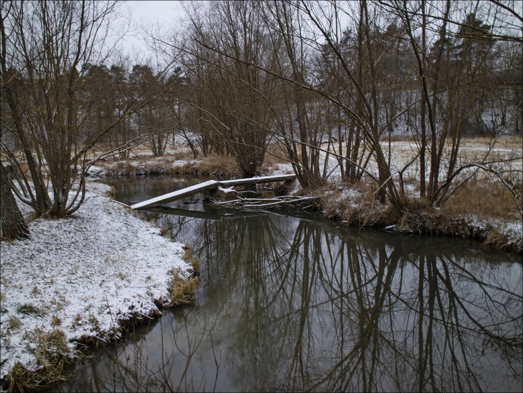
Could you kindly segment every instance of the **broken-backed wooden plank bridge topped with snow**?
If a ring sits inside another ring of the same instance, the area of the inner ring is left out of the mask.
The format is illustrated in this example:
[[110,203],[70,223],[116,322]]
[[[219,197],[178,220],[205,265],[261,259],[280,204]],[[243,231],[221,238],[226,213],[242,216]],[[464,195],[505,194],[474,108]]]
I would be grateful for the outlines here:
[[234,180],[208,180],[207,182],[195,184],[190,187],[185,187],[179,190],[176,190],[172,193],[164,194],[157,196],[155,198],[144,200],[143,202],[134,204],[131,206],[132,209],[143,209],[146,207],[160,206],[172,202],[177,199],[185,198],[189,195],[194,195],[201,193],[202,191],[208,191],[216,189],[219,187],[234,187],[234,186],[244,186],[244,185],[255,185],[261,183],[273,183],[273,182],[290,182],[296,178],[296,175],[273,175],[273,176],[263,176],[263,177],[249,177],[246,179],[234,179]]

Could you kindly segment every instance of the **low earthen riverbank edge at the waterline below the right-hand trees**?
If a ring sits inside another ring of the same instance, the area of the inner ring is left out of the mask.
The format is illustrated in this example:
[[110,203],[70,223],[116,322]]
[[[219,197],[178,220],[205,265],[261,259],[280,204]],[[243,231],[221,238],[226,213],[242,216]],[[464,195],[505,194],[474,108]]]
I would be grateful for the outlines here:
[[[490,186],[496,188],[496,185]],[[451,204],[434,208],[414,202],[407,205],[403,214],[398,214],[390,204],[383,205],[369,198],[368,187],[368,184],[350,188],[331,184],[315,190],[313,193],[322,195],[317,210],[342,225],[379,228],[397,234],[473,239],[495,250],[523,254],[523,222],[518,219],[517,212],[488,214],[493,209],[488,209],[486,203],[482,212],[481,203],[474,200],[472,192],[467,194],[468,201],[462,208]],[[499,206],[503,205],[503,197],[497,201]]]

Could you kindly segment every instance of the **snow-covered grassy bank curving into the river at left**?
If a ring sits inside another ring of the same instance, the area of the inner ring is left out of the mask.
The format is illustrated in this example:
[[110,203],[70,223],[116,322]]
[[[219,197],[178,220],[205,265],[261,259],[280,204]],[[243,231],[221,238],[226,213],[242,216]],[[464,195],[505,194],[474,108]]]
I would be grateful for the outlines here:
[[78,341],[118,338],[123,322],[169,304],[169,271],[190,275],[182,244],[108,197],[87,196],[71,218],[39,218],[30,239],[1,242],[2,379],[74,355]]

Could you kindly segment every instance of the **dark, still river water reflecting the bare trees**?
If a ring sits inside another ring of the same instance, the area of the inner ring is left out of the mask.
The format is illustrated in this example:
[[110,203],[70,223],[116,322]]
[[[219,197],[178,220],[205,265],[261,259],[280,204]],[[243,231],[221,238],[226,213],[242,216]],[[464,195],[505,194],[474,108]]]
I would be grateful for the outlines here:
[[[133,204],[199,181],[105,183]],[[521,392],[519,257],[198,197],[151,211],[202,262],[195,305],[51,389]]]

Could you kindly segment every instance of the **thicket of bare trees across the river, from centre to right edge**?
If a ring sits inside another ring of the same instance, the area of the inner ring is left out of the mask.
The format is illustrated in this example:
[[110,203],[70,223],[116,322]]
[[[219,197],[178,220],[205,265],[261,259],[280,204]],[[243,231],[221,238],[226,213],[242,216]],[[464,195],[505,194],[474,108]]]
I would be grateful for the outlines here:
[[[380,199],[402,210],[408,166],[419,173],[419,197],[440,205],[458,175],[479,167],[460,162],[463,137],[521,135],[515,6],[213,2],[191,9],[185,40],[171,45],[198,65],[188,78],[199,87],[198,99],[189,99],[200,121],[194,129],[216,151],[222,152],[212,141],[226,140],[228,151],[242,150],[237,159],[245,160],[256,156],[246,146],[261,150],[259,141],[270,140],[304,187],[325,182],[330,155],[342,179],[371,177]],[[216,83],[217,75],[228,84]],[[213,106],[221,94],[227,106]],[[240,140],[238,132],[251,138]],[[416,142],[413,159],[401,168],[391,166],[384,143],[397,135]],[[481,161],[490,163],[488,154]]]

